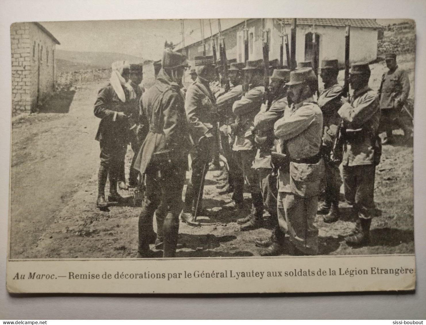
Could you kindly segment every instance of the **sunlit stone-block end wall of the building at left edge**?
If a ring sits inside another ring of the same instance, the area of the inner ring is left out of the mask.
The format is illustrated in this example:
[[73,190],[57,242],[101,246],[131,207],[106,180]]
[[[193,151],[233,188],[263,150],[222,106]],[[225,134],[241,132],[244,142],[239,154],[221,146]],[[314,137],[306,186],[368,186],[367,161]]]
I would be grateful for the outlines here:
[[10,27],[12,50],[12,116],[31,111],[30,23]]

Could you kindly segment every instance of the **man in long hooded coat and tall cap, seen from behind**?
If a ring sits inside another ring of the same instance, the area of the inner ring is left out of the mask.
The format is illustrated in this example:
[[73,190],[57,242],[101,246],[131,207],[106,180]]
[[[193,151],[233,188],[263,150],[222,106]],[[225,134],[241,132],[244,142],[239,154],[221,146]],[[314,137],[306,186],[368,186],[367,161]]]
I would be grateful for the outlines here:
[[[146,191],[139,216],[138,257],[152,257],[153,215],[162,204],[163,257],[174,257],[179,230],[182,190],[187,170],[189,140],[181,80],[186,58],[164,52],[162,69],[153,86],[141,98],[140,123],[149,129],[135,168],[145,174]],[[143,129],[140,128],[140,129]],[[157,216],[158,218],[159,216]]]

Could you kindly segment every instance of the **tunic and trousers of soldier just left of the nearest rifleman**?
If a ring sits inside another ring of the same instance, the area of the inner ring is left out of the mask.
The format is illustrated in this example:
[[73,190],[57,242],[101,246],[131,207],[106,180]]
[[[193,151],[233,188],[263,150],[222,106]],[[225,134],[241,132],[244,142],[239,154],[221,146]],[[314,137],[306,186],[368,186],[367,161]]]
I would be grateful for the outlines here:
[[282,118],[285,108],[288,106],[287,97],[274,100],[271,107],[267,109],[262,104],[260,112],[254,118],[254,127],[259,137],[265,137],[262,144],[258,144],[256,157],[252,168],[256,168],[259,173],[259,183],[262,190],[263,203],[266,210],[271,214],[272,220],[276,220],[276,197],[278,194],[277,178],[272,171],[271,148],[274,146],[273,125]]

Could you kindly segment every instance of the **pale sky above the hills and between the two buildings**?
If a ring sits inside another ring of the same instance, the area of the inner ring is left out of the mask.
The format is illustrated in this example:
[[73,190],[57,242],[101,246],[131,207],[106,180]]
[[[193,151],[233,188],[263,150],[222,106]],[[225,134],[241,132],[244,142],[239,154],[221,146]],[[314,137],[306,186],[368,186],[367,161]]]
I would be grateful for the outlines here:
[[[204,19],[204,37],[210,36],[209,20]],[[213,35],[218,20],[211,19]],[[222,30],[244,19],[221,19]],[[57,49],[81,52],[115,52],[158,60],[164,42],[180,43],[181,20],[90,20],[40,22],[59,40]],[[184,20],[185,45],[201,40],[199,19]]]

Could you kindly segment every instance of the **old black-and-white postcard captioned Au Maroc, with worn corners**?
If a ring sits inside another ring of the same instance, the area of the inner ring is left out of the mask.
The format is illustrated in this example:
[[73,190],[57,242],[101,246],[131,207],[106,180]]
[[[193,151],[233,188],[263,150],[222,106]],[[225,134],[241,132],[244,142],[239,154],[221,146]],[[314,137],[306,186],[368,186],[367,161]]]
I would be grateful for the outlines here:
[[9,292],[415,289],[414,20],[10,32]]

